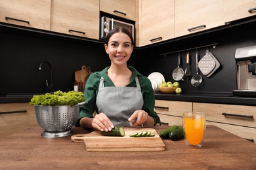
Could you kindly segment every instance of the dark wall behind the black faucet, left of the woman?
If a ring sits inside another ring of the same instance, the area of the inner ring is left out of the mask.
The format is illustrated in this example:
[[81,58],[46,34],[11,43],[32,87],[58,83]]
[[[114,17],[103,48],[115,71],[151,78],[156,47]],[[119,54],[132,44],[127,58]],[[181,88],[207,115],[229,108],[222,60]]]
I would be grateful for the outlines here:
[[81,65],[99,71],[110,64],[102,43],[11,27],[0,27],[0,37],[0,93],[45,92],[50,69],[44,64],[39,71],[43,60],[53,67],[54,90],[63,91],[73,90]]

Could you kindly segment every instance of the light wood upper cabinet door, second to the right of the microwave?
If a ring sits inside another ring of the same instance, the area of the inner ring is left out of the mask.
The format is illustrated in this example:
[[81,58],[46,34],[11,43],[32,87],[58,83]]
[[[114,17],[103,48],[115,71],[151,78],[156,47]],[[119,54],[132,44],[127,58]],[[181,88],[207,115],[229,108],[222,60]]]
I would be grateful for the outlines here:
[[175,37],[224,25],[223,0],[175,0]]

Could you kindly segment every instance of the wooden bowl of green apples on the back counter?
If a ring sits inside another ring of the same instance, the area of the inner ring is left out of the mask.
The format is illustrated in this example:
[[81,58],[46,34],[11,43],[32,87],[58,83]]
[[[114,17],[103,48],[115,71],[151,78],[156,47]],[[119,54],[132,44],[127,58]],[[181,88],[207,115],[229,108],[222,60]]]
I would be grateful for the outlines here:
[[160,86],[159,86],[159,90],[161,93],[181,93],[182,90],[181,88],[179,87],[180,84],[179,82],[165,82],[165,81],[162,81]]

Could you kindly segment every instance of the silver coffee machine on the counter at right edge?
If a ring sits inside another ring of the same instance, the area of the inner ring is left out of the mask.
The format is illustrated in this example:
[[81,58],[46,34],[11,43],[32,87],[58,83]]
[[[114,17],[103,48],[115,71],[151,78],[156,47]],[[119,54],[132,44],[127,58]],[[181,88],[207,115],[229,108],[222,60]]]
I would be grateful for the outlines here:
[[233,95],[256,97],[256,46],[236,49],[236,82]]

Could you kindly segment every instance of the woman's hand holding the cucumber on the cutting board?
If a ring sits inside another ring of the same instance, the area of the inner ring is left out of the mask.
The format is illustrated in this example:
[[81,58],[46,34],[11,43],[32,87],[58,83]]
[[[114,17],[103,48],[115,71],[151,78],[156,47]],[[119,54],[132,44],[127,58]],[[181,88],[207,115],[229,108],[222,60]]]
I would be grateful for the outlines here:
[[91,126],[93,129],[98,129],[100,131],[111,131],[112,128],[114,128],[114,124],[112,124],[108,116],[103,112],[95,115],[95,118],[93,118],[93,121],[91,122]]

